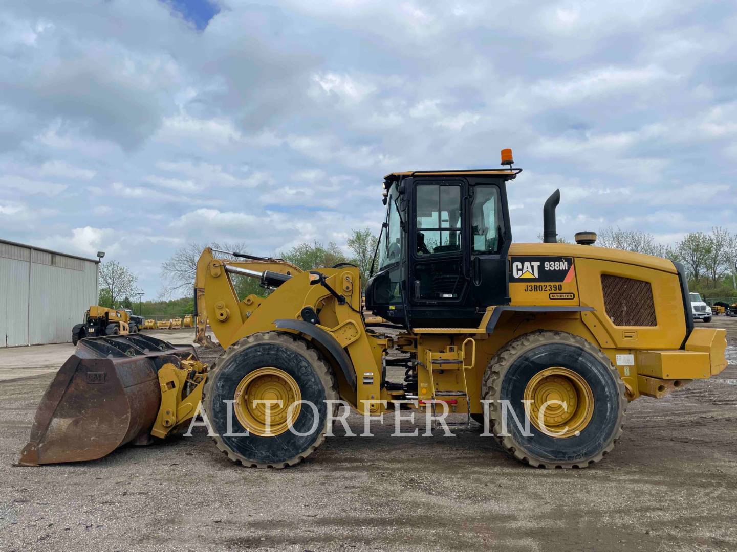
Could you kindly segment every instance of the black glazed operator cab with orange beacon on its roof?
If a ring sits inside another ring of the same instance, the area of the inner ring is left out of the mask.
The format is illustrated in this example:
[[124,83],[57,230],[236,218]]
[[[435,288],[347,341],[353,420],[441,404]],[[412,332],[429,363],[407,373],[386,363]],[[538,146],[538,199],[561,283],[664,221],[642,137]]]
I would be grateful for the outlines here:
[[[505,152],[509,152],[507,158]],[[408,328],[474,327],[509,304],[509,169],[413,171],[384,180],[386,217],[366,308]]]

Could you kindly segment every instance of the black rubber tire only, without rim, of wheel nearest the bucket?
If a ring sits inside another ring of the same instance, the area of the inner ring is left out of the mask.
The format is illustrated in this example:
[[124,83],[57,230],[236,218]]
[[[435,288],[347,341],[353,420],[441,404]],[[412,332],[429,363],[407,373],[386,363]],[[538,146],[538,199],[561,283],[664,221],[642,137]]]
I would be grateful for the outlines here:
[[[239,389],[248,378],[257,380],[260,372],[269,369],[285,372],[285,377],[298,386],[297,396],[305,403],[296,414],[292,427],[307,435],[298,436],[286,429],[273,436],[259,435],[257,431],[251,431],[248,436],[237,436],[245,433],[246,428],[237,415],[237,403],[234,403],[231,433],[236,435],[227,436],[228,405],[223,401],[236,400]],[[229,459],[245,467],[282,468],[298,464],[322,445],[329,430],[325,401],[338,400],[337,389],[330,367],[307,341],[290,333],[255,333],[228,347],[218,358],[203,389],[203,408],[217,434],[213,437],[215,445]],[[316,422],[315,411],[307,401],[317,407]],[[337,408],[333,403],[333,415]]]

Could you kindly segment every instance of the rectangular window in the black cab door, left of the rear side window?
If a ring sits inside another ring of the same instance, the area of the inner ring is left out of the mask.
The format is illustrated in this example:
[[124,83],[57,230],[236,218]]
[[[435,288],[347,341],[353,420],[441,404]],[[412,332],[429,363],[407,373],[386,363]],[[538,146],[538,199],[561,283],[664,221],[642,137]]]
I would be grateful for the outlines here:
[[416,254],[461,250],[461,187],[422,184],[416,187]]

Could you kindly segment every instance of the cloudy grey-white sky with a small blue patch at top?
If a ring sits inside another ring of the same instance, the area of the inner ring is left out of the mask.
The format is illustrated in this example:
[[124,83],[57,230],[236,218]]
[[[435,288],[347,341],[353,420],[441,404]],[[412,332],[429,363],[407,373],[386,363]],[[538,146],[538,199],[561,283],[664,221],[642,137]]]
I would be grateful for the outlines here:
[[737,231],[733,1],[5,0],[0,237],[139,274],[378,230],[383,174],[497,166],[515,241]]

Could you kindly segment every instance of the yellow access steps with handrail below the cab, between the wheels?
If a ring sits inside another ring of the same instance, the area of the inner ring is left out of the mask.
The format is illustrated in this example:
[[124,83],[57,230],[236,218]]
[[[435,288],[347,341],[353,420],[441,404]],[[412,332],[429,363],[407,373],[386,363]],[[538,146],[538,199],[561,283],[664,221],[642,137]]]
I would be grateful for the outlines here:
[[[471,364],[466,364],[466,346],[469,345],[470,361]],[[435,353],[433,351],[425,351],[425,368],[430,376],[430,400],[423,399],[423,403],[430,403],[433,408],[433,417],[437,417],[436,404],[439,402],[454,404],[457,403],[458,398],[466,400],[466,423],[465,424],[448,424],[449,427],[471,427],[471,400],[468,394],[468,383],[466,378],[466,370],[472,369],[476,364],[476,342],[472,337],[467,338],[461,345],[461,349],[455,345],[449,345],[446,350],[442,353]],[[450,391],[438,391],[435,389],[435,372],[458,370],[461,372],[460,382],[463,389],[450,390]],[[451,400],[444,400],[439,397],[448,397]],[[452,402],[453,401],[453,402]],[[433,429],[437,429],[438,422],[434,422]]]

